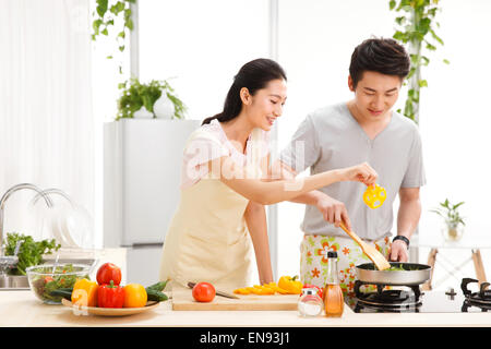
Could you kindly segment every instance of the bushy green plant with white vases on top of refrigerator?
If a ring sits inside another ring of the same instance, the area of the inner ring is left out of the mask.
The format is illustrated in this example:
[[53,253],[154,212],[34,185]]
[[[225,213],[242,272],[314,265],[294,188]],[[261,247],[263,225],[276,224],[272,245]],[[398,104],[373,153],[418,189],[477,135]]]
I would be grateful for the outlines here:
[[118,99],[116,120],[121,118],[184,119],[187,108],[165,80],[152,80],[145,84],[136,77],[131,77],[118,87],[122,93]]

